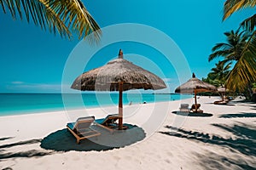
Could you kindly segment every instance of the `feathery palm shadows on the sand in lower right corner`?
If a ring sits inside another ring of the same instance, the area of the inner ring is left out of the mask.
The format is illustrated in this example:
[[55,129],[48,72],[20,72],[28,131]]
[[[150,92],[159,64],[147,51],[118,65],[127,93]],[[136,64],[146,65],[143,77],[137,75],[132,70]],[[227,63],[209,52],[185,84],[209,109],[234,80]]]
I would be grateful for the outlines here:
[[234,157],[219,156],[216,153],[210,152],[207,155],[205,153],[203,155],[196,153],[197,157],[199,158],[199,160],[196,162],[202,163],[202,167],[207,166],[206,169],[224,169],[225,167],[229,167],[229,165],[235,166],[235,169],[255,169],[255,162],[253,163],[253,159],[255,159],[256,156],[256,148],[253,147],[256,145],[255,127],[243,123],[236,124],[234,126],[224,124],[212,124],[212,126],[219,127],[227,132],[233,133],[236,138],[224,139],[208,133],[187,131],[171,126],[166,126],[166,128],[170,129],[169,132],[160,133],[207,144],[217,144],[218,146],[229,148],[231,152],[239,152],[242,154],[242,156],[250,156],[252,160],[241,161],[239,158],[236,160]]

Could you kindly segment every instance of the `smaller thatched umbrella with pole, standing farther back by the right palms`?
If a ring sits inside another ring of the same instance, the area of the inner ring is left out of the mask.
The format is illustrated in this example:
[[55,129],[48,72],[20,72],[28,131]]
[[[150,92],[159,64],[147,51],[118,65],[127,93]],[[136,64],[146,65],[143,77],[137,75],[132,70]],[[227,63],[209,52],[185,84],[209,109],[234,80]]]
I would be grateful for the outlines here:
[[175,93],[180,94],[195,94],[195,112],[197,111],[197,103],[196,103],[196,93],[200,92],[209,92],[209,91],[217,91],[217,88],[212,84],[207,82],[203,82],[195,77],[195,73],[193,73],[192,78],[189,79],[188,82],[183,83],[179,87],[175,89]]

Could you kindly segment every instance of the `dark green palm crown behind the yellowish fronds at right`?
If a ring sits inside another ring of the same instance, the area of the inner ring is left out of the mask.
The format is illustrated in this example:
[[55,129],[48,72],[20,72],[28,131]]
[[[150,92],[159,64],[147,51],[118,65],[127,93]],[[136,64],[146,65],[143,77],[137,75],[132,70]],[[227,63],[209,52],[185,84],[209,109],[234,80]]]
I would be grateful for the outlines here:
[[238,60],[241,57],[241,52],[245,47],[248,39],[248,35],[245,31],[228,31],[224,32],[227,37],[227,42],[217,43],[212,48],[212,54],[210,54],[208,60],[216,59],[217,57],[224,57],[224,62]]

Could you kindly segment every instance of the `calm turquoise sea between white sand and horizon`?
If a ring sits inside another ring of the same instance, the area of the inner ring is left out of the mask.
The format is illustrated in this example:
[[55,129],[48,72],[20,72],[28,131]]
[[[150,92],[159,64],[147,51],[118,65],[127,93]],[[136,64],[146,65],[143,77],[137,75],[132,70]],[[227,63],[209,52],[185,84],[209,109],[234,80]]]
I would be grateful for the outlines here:
[[[177,99],[191,95],[180,94],[123,94],[123,104],[140,104]],[[64,111],[79,108],[118,105],[119,94],[0,94],[0,116],[45,111]]]

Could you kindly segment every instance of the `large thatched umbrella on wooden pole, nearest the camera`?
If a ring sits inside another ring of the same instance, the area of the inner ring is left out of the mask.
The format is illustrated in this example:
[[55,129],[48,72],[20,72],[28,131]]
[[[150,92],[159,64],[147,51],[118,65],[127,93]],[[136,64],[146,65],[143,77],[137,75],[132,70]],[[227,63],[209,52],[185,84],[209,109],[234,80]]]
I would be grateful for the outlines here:
[[118,59],[84,72],[76,78],[71,88],[82,91],[119,91],[119,129],[122,129],[123,91],[140,88],[157,90],[166,88],[166,84],[160,77],[123,59],[123,52],[120,49]]

